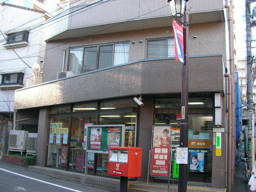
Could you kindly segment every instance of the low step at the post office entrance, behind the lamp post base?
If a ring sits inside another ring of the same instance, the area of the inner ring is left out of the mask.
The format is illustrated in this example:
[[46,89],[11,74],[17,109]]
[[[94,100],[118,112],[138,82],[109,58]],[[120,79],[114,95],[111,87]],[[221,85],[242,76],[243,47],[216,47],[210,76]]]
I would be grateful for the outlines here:
[[[130,183],[129,192],[168,192],[166,183]],[[211,188],[207,186],[187,186],[187,192],[226,192],[226,189]],[[178,185],[170,184],[169,192],[178,192]]]

